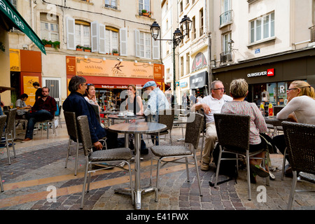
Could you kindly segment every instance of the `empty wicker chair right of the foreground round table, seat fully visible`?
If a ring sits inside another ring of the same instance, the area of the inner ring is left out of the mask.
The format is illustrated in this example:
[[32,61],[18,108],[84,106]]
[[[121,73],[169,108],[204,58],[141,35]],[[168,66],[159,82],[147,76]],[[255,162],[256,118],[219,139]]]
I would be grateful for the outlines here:
[[[195,119],[193,119],[195,116]],[[200,196],[202,196],[202,190],[200,186],[200,176],[199,176],[199,169],[197,165],[197,157],[196,157],[196,150],[198,147],[199,139],[200,139],[200,131],[202,129],[202,123],[204,120],[204,116],[199,113],[190,113],[188,119],[193,120],[191,123],[187,123],[186,125],[186,136],[185,136],[185,144],[193,145],[193,150],[186,146],[152,146],[151,151],[152,153],[158,157],[158,167],[157,167],[157,175],[156,175],[156,188],[155,188],[155,202],[158,202],[158,189],[159,189],[159,174],[160,168],[166,165],[168,162],[178,162],[182,164],[186,164],[186,172],[187,172],[187,180],[189,182],[189,171],[188,171],[188,164],[195,165],[196,172],[197,172],[197,180],[199,184]],[[193,163],[188,162],[188,158],[193,157]],[[169,158],[174,158],[174,160],[169,160]],[[151,176],[150,182],[152,183],[152,167],[153,167],[153,159],[151,159]],[[163,160],[167,159],[167,160]],[[185,159],[185,162],[179,161],[181,159]],[[163,163],[160,166],[161,162]]]

